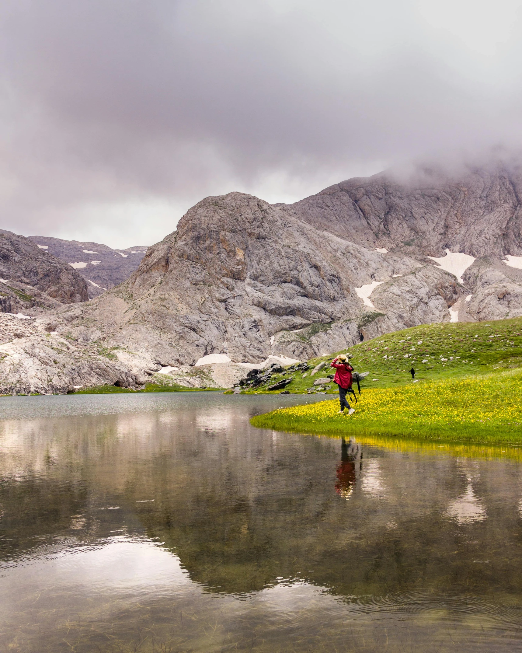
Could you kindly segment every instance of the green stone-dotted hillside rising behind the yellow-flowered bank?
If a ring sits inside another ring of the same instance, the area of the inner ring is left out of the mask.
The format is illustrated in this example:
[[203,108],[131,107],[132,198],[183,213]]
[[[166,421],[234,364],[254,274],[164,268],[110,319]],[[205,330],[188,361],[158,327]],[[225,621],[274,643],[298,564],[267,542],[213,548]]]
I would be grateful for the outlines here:
[[[369,372],[362,383],[366,388],[411,385],[408,372],[412,366],[416,370],[416,379],[427,381],[499,374],[522,367],[522,318],[412,327],[361,342],[343,350],[343,353],[352,355],[355,370]],[[313,367],[322,361],[330,363],[332,358],[333,355],[312,358],[309,364]],[[312,378],[309,374],[303,377],[294,373],[294,380],[286,390],[292,394],[307,392],[315,379],[333,371],[325,369]],[[290,375],[288,372],[273,375],[265,386],[247,392],[267,392],[268,385]],[[277,394],[280,390],[273,392]],[[330,392],[337,392],[337,386],[331,384]]]

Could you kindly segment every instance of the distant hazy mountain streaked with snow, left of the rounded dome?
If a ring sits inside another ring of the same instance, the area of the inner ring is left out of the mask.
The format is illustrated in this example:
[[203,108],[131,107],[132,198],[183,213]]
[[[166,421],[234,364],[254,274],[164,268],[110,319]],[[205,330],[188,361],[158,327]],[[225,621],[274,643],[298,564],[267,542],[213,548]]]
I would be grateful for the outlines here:
[[87,281],[89,298],[97,297],[128,279],[147,251],[147,246],[112,249],[100,243],[82,243],[48,236],[29,236],[29,240],[42,251],[78,270]]

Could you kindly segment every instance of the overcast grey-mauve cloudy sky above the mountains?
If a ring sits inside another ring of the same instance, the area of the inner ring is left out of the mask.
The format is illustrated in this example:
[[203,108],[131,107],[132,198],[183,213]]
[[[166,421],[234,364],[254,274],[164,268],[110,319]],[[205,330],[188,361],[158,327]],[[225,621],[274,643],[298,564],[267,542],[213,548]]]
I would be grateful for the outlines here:
[[3,0],[0,227],[148,245],[269,202],[522,146],[521,3]]

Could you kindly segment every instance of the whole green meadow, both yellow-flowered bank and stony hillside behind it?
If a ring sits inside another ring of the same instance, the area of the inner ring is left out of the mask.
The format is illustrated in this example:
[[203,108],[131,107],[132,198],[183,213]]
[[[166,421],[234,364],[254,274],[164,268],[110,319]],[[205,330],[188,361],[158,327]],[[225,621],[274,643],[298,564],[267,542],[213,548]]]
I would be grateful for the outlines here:
[[[441,443],[522,443],[521,318],[424,325],[344,351],[358,372],[369,372],[354,415],[339,414],[337,401],[328,400],[253,417],[254,426]],[[415,383],[408,374],[412,366]],[[299,376],[288,385],[292,392],[311,387],[309,377]]]

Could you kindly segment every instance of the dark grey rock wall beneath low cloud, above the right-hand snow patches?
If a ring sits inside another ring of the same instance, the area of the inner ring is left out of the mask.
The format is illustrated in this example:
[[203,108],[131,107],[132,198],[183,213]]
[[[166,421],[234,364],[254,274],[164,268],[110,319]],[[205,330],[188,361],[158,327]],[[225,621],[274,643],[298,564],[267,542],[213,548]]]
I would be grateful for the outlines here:
[[418,170],[408,183],[390,174],[330,186],[290,208],[303,221],[364,247],[476,258],[522,255],[522,172],[503,165],[452,179]]

